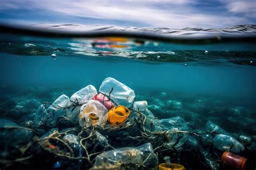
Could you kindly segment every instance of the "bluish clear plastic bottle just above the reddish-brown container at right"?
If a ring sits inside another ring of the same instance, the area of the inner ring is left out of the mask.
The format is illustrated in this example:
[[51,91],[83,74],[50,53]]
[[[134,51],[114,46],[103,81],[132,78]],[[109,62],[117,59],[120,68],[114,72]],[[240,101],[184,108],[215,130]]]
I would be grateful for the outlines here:
[[218,134],[213,138],[213,145],[219,149],[219,151],[225,152],[229,151],[232,153],[241,153],[244,151],[245,147],[234,139],[233,137],[225,134]]

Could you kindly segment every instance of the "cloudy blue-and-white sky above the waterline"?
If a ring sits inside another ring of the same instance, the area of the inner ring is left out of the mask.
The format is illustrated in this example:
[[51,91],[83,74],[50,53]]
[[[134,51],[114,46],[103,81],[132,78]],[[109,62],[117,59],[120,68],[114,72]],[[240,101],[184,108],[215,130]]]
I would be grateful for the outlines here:
[[255,0],[0,0],[0,23],[150,28],[226,28],[256,24]]

